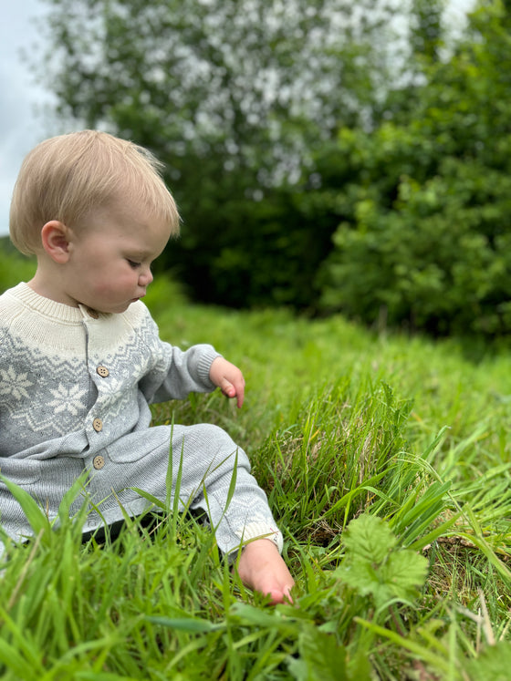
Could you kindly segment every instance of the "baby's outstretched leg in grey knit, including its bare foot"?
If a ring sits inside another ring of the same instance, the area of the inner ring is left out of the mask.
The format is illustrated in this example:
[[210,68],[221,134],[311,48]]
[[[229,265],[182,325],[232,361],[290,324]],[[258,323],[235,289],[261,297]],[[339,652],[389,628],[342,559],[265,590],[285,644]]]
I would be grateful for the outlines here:
[[[168,469],[169,435],[172,470]],[[144,447],[147,453],[139,456]],[[131,459],[126,452],[132,453]],[[236,558],[243,547],[237,571],[247,587],[269,595],[273,603],[289,597],[293,578],[280,556],[282,533],[264,490],[250,473],[245,451],[222,428],[198,424],[135,431],[120,439],[108,457],[94,478],[95,498],[102,499],[101,518],[110,524],[120,521],[120,506],[133,516],[147,509],[148,501],[137,488],[170,501],[171,508],[177,495],[180,511],[207,513],[224,555]],[[114,495],[111,480],[115,480]],[[92,514],[89,517],[94,520]],[[94,520],[85,529],[95,530],[98,525]]]

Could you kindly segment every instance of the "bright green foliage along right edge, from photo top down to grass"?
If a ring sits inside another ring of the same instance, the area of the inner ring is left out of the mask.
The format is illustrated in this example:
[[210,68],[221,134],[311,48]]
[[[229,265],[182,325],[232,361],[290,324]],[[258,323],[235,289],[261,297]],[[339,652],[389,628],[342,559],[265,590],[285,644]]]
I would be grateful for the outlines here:
[[[340,207],[322,303],[434,334],[511,331],[511,13],[486,3],[446,62],[426,67],[413,112],[367,136],[342,129],[318,159]],[[320,198],[318,197],[318,202]]]

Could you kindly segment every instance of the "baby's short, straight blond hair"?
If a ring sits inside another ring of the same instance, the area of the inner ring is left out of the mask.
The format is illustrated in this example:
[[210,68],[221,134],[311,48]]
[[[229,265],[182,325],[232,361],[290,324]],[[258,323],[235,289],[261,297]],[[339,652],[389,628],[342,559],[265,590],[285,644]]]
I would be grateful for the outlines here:
[[179,233],[179,213],[150,151],[97,130],[46,139],[30,151],[17,177],[9,229],[21,253],[37,253],[42,227],[73,229],[94,209],[135,201]]

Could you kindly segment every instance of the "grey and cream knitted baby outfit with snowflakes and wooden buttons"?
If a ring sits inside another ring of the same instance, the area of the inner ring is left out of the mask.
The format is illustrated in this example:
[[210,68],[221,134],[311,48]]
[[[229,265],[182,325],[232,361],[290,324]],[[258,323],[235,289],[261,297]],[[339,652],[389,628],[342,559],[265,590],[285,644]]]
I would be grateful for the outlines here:
[[[121,520],[123,511],[147,508],[133,488],[168,500],[173,459],[172,494],[181,465],[181,507],[208,512],[224,552],[256,536],[280,548],[245,452],[221,428],[150,428],[151,402],[214,389],[209,369],[217,356],[212,346],[182,351],[162,342],[141,301],[119,315],[100,314],[18,284],[0,295],[0,474],[27,490],[51,520],[88,471],[89,531]],[[226,510],[235,469],[236,492]],[[1,480],[0,523],[13,538],[32,532]]]

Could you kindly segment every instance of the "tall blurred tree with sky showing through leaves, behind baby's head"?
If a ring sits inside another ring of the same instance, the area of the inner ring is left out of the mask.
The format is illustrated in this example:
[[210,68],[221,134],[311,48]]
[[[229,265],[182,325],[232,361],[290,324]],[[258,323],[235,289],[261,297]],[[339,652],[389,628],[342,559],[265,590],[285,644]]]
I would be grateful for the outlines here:
[[339,126],[378,116],[395,2],[47,3],[60,115],[165,163],[183,236],[164,266],[202,300],[310,304],[336,222],[305,223],[297,191]]

